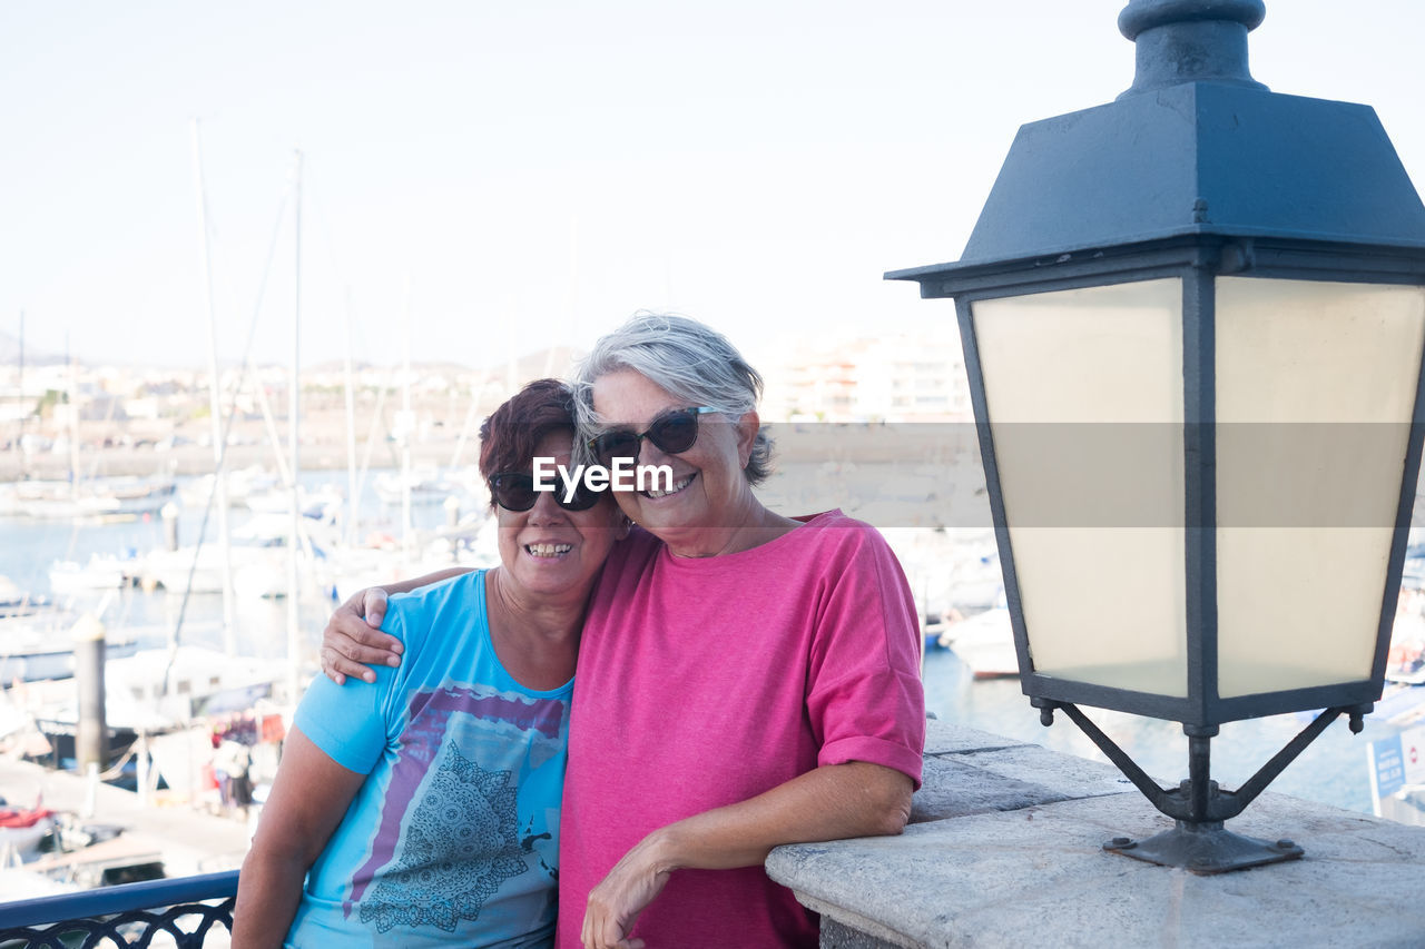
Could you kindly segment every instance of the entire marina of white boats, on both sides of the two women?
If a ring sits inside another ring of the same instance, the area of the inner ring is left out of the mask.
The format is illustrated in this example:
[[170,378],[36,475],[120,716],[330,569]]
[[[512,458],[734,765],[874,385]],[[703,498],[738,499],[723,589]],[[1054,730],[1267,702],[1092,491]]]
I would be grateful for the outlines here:
[[[928,631],[925,683],[932,715],[1102,759],[1077,730],[1039,725],[1037,714],[1020,694],[992,534],[983,529],[908,524],[906,512],[923,513],[935,504],[926,503],[932,489],[923,477],[903,467],[789,462],[767,493],[788,509],[839,504],[854,514],[889,520],[885,533],[905,566]],[[144,873],[214,872],[241,862],[247,822],[256,814],[247,805],[261,804],[265,781],[275,771],[295,694],[291,683],[301,690],[316,674],[315,648],[335,603],[370,583],[490,556],[490,539],[482,540],[480,531],[483,510],[473,507],[479,497],[459,487],[469,482],[469,472],[459,473],[459,480],[455,473],[420,479],[388,474],[388,487],[443,484],[439,503],[402,507],[372,492],[358,524],[358,533],[372,543],[352,547],[339,543],[341,492],[332,484],[332,472],[302,474],[304,497],[325,497],[326,504],[314,506],[316,516],[304,519],[311,524],[299,559],[295,664],[288,657],[282,570],[288,551],[276,543],[282,531],[265,527],[286,523],[281,513],[245,504],[231,509],[235,539],[262,537],[265,531],[274,539],[269,544],[235,543],[232,551],[251,549],[275,557],[269,573],[276,577],[272,588],[234,584],[231,626],[224,620],[221,583],[204,579],[204,567],[217,566],[217,546],[209,537],[195,553],[204,523],[198,504],[184,504],[167,519],[140,513],[125,519],[0,520],[7,539],[0,573],[16,590],[30,591],[34,601],[19,611],[90,616],[105,627],[111,768],[104,777],[114,782],[53,769],[73,767],[67,759],[74,755],[76,680],[14,675],[16,640],[7,640],[11,675],[6,717],[0,720],[0,730],[7,732],[0,735],[0,747],[6,748],[0,755],[0,795],[11,805],[43,807],[54,815],[46,821],[68,828],[67,834],[50,832],[44,849],[31,844],[24,852],[9,851],[7,891],[20,892],[10,888],[20,888],[17,875],[24,873],[24,885],[38,893],[51,886],[100,885]],[[201,497],[204,487],[200,476],[177,479],[180,496]],[[450,526],[455,507],[466,510],[459,527]],[[406,543],[398,543],[398,537]],[[174,540],[181,543],[170,550]],[[164,559],[171,569],[160,574],[152,564]],[[251,563],[256,561],[238,556],[229,561],[244,569]],[[94,570],[80,571],[77,564],[93,564]],[[115,570],[117,583],[76,581],[78,573],[108,577]],[[241,576],[241,570],[235,573]],[[274,591],[278,596],[271,596]],[[225,651],[228,640],[232,655]],[[1402,650],[1408,651],[1405,645]],[[60,671],[71,673],[71,667]],[[1392,690],[1382,714],[1367,718],[1364,735],[1344,728],[1328,731],[1280,778],[1278,789],[1358,812],[1372,811],[1368,750],[1399,734],[1425,707],[1425,697],[1414,687]],[[1102,712],[1102,727],[1164,784],[1183,774],[1187,745],[1177,725],[1113,712]],[[1226,727],[1214,762],[1224,782],[1248,778],[1302,724],[1285,715]],[[244,758],[247,782],[237,794],[222,772],[224,759],[234,752]],[[1411,809],[1395,808],[1392,814],[1409,818]],[[205,829],[194,832],[190,824]],[[76,846],[76,841],[87,842]]]

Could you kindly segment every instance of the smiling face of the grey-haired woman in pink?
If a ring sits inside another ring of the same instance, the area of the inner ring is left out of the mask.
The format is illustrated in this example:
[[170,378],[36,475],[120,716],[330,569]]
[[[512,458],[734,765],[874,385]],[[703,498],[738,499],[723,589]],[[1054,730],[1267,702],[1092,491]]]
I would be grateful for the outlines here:
[[[606,430],[644,432],[665,413],[691,408],[633,369],[596,379],[593,396]],[[755,412],[741,418],[712,413],[698,416],[697,440],[685,452],[668,455],[643,439],[640,467],[667,465],[673,470],[673,490],[613,492],[618,506],[678,556],[725,553],[731,537],[760,510],[742,473],[757,429]]]

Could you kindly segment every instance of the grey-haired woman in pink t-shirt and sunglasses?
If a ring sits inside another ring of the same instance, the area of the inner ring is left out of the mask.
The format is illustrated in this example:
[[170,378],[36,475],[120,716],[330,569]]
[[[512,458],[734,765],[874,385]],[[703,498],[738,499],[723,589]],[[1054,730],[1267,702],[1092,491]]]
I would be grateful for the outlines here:
[[[875,529],[752,493],[761,385],[721,333],[651,315],[600,339],[573,383],[593,462],[664,480],[614,492],[637,529],[584,624],[560,946],[815,946],[767,854],[909,818],[925,740],[909,587]],[[358,617],[380,604],[333,617],[329,674],[399,661]]]

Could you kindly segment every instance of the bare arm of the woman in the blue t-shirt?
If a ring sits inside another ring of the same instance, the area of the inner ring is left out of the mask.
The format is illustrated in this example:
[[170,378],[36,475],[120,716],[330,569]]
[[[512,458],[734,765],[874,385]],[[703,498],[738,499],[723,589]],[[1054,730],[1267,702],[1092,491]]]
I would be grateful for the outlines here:
[[252,849],[238,875],[232,945],[281,946],[302,898],[302,881],[316,862],[366,775],[332,761],[294,728],[282,765],[262,808]]

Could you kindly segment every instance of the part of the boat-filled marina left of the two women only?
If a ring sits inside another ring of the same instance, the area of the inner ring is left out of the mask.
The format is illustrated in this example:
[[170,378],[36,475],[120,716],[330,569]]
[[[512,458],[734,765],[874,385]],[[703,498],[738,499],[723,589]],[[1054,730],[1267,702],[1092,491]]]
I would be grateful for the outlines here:
[[[329,472],[304,474],[306,496],[329,500]],[[184,476],[177,486],[192,497],[201,482]],[[432,544],[443,564],[470,556],[484,512],[473,497],[463,502],[472,517],[452,529],[440,506],[416,506],[408,526],[400,507],[373,497],[361,519],[370,543],[352,547],[341,547],[331,516],[304,519],[311,527],[299,557],[295,655],[288,549],[274,530],[274,520],[289,523],[281,512],[229,512],[235,579],[254,564],[269,564],[276,577],[235,583],[231,620],[222,584],[211,579],[221,550],[201,534],[202,504],[174,504],[167,517],[0,517],[0,574],[9,579],[0,617],[0,798],[16,825],[0,824],[7,838],[0,899],[235,869],[256,815],[249,805],[275,772],[292,697],[316,671],[333,593],[358,576],[420,573]],[[339,576],[336,564],[352,576]],[[95,627],[107,640],[107,769],[78,775],[83,695],[70,637],[94,636]]]

